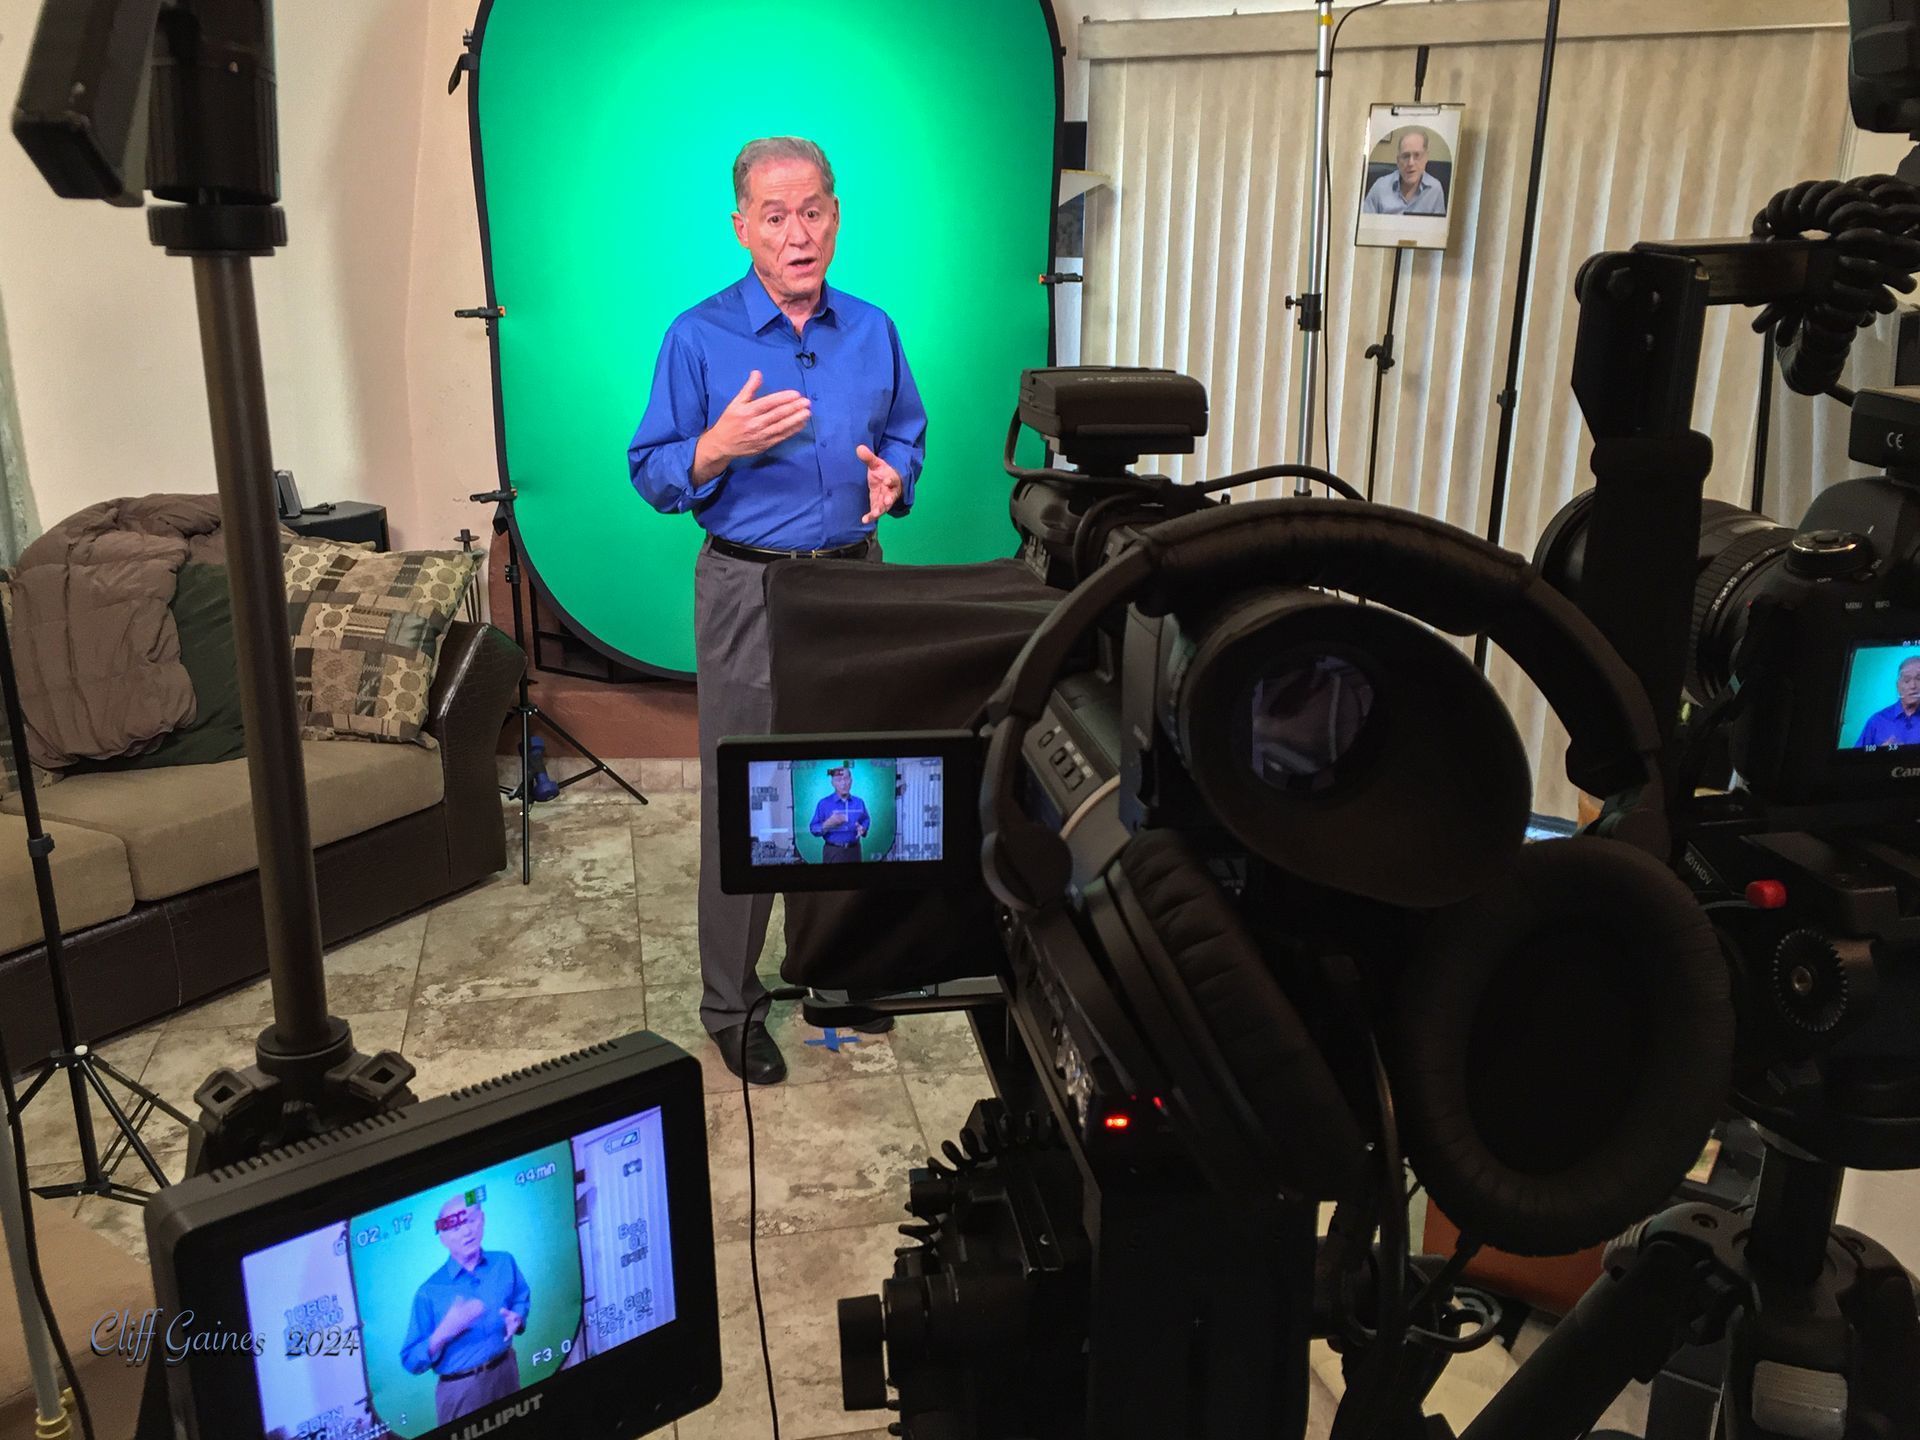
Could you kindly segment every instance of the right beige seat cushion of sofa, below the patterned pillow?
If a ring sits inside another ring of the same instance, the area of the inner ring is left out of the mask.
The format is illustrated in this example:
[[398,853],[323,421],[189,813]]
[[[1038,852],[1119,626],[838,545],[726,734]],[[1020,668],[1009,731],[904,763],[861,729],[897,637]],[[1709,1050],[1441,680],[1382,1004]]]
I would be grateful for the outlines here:
[[[442,799],[440,756],[415,745],[301,741],[315,845],[357,835]],[[73,776],[40,804],[50,820],[119,835],[132,893],[163,900],[259,866],[246,760]],[[0,801],[17,812],[17,797]]]

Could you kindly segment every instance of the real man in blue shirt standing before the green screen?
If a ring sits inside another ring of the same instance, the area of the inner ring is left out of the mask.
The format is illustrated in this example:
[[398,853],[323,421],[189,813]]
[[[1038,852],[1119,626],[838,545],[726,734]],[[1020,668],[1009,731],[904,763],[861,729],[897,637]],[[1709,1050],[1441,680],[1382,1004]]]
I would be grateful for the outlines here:
[[826,284],[841,215],[820,146],[751,142],[733,202],[753,265],[668,326],[628,468],[649,505],[708,536],[693,566],[701,1021],[735,1075],[774,1085],[787,1066],[755,1010],[772,897],[720,893],[714,745],[772,724],[762,566],[877,561],[876,522],[914,505],[927,415],[893,321]]

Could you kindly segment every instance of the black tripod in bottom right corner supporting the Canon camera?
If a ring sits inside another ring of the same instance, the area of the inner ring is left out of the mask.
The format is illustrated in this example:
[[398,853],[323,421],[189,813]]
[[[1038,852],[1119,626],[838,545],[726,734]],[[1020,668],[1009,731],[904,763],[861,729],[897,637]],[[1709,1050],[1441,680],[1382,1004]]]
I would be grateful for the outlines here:
[[[1920,1434],[1914,1283],[1834,1227],[1843,1173],[1770,1139],[1749,1208],[1644,1221],[1461,1440],[1578,1440],[1628,1380],[1722,1336],[1718,1440]],[[1649,1434],[1661,1419],[1655,1404]]]

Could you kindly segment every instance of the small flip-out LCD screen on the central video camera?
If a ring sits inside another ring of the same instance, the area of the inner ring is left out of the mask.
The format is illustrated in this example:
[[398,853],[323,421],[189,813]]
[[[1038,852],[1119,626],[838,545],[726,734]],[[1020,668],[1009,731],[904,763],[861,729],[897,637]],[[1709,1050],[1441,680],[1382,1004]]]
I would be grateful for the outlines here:
[[977,747],[968,732],[724,741],[724,887],[753,893],[977,879]]

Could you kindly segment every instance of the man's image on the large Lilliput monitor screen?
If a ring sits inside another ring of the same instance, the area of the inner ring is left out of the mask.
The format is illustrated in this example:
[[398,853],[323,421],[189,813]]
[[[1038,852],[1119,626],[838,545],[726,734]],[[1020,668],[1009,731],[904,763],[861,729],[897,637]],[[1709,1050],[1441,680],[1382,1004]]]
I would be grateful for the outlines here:
[[513,1336],[526,1329],[526,1277],[505,1250],[482,1250],[486,1213],[457,1194],[440,1206],[434,1235],[447,1263],[413,1294],[413,1317],[399,1348],[411,1375],[434,1371],[440,1425],[499,1404],[520,1390]]

